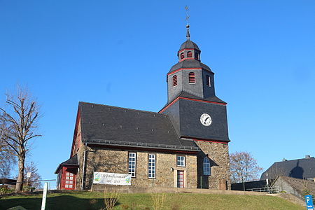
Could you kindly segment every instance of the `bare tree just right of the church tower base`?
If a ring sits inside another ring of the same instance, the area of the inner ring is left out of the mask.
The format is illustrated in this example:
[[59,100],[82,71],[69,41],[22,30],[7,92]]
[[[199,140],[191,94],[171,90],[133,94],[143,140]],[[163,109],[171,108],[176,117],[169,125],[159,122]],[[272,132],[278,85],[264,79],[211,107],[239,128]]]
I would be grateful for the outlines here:
[[230,172],[232,183],[245,183],[258,179],[258,172],[262,168],[251,153],[235,152],[230,155]]

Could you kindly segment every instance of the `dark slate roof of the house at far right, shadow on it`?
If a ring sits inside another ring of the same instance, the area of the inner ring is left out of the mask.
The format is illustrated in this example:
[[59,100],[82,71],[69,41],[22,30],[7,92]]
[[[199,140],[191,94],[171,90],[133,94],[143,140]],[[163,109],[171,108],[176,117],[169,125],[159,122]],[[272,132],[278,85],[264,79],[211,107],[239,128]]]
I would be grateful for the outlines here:
[[312,179],[315,177],[315,158],[312,157],[274,162],[269,169],[262,173],[260,180],[276,179],[276,176],[290,176],[297,179]]

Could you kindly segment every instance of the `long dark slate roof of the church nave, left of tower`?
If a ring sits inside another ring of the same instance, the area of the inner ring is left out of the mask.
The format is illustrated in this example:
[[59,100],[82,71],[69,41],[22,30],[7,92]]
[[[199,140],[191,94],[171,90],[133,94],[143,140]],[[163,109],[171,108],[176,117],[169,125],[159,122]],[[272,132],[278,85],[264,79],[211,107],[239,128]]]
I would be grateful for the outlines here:
[[179,139],[166,114],[101,104],[79,103],[83,143],[176,151],[200,151]]

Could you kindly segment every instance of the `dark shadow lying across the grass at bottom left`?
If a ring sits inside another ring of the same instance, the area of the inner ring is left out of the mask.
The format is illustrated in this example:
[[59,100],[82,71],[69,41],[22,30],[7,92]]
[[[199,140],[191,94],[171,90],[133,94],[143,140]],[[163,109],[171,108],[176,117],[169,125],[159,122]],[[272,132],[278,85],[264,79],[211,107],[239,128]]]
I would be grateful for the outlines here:
[[[119,202],[115,206],[119,205]],[[41,209],[41,198],[10,198],[0,200],[0,209],[9,209],[11,207],[21,206],[27,210]],[[87,199],[70,195],[60,195],[48,197],[45,210],[94,210],[104,209],[104,200],[102,198]]]

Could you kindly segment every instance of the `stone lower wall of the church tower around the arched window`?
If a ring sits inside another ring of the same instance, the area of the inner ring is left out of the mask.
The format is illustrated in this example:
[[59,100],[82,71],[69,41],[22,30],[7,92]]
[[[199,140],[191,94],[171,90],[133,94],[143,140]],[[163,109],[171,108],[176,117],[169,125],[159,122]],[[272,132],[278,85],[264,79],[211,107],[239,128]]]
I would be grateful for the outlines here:
[[[198,153],[198,188],[230,190],[230,162],[228,144],[209,141],[195,141],[202,152]],[[203,160],[211,162],[211,175],[203,175]]]

